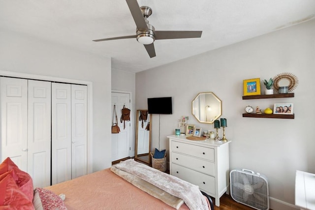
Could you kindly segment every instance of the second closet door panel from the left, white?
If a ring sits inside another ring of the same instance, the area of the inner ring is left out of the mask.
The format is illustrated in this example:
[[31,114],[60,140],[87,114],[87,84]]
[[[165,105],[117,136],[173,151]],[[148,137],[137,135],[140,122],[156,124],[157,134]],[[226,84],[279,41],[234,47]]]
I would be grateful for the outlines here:
[[45,187],[51,172],[51,82],[28,83],[28,173],[34,187]]

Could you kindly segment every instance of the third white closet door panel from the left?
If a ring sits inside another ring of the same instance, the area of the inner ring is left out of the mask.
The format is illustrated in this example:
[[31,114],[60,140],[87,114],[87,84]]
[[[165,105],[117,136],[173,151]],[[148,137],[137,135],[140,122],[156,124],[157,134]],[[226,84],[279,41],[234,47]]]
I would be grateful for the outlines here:
[[52,83],[52,184],[71,180],[71,85]]

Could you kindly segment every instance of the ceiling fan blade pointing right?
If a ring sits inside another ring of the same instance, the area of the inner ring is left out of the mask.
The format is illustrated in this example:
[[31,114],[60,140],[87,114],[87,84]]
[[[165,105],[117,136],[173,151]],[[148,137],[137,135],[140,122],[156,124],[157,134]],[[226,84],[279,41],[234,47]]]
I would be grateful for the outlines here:
[[156,30],[156,39],[200,38],[202,30]]

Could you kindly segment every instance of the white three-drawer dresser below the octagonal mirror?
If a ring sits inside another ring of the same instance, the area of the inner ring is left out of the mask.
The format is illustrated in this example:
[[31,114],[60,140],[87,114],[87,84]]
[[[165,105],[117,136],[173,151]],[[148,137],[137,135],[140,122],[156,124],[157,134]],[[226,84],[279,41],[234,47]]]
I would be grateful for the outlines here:
[[220,197],[229,187],[228,144],[231,141],[192,141],[175,135],[168,138],[170,174],[198,185],[216,199],[219,207]]

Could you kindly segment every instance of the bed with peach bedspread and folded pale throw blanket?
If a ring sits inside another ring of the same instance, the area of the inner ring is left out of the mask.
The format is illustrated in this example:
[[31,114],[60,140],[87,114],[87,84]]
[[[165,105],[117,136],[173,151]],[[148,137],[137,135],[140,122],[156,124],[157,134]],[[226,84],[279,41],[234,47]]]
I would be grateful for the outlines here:
[[[129,167],[131,172],[124,171],[124,167]],[[139,172],[140,175],[133,175],[132,171]],[[145,177],[141,175],[142,172]],[[150,179],[153,183],[150,183]],[[154,184],[161,185],[163,189]],[[211,198],[199,191],[198,186],[133,159],[73,180],[35,188],[32,205],[35,210],[214,209]]]

